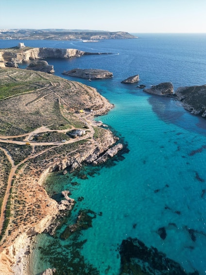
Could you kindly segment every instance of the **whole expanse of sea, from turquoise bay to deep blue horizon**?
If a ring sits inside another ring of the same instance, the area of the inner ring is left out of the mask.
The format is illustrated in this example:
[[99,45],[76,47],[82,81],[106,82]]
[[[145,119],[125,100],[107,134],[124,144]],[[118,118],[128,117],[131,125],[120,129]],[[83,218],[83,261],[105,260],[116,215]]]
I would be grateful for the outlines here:
[[[77,203],[55,238],[37,237],[32,275],[57,266],[62,275],[81,275],[84,266],[84,274],[96,274],[91,271],[94,268],[100,275],[119,275],[118,249],[128,237],[157,248],[186,272],[206,274],[206,119],[190,114],[173,99],[147,94],[137,84],[120,83],[139,74],[138,84],[147,87],[172,82],[176,90],[206,84],[206,34],[137,36],[97,43],[20,41],[32,47],[112,53],[47,61],[54,65],[54,74],[95,87],[115,105],[97,119],[114,130],[129,149],[124,158],[108,165],[83,167],[80,173],[87,179],[77,173],[48,177],[51,196],[67,189]],[[0,48],[18,42],[0,40]],[[88,82],[61,74],[74,68],[105,69],[113,78]],[[80,209],[96,213],[92,227],[62,240],[61,233],[75,222]],[[159,228],[166,231],[164,239]],[[65,266],[74,269],[64,273]]]

